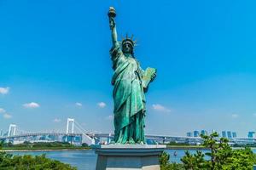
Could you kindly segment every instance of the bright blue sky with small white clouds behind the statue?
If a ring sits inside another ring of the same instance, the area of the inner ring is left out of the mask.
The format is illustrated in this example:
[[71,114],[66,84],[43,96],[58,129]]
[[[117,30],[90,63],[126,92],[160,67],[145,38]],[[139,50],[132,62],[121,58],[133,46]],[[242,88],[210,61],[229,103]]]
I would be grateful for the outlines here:
[[[0,129],[113,131],[107,12],[119,39],[137,39],[147,94],[146,133],[255,130],[253,1],[0,1]],[[28,105],[26,105],[28,104]]]

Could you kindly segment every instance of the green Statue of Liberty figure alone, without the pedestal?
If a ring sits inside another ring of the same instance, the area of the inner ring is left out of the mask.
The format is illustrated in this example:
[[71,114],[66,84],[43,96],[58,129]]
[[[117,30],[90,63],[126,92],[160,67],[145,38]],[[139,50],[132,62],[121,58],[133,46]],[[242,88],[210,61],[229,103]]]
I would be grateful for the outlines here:
[[116,144],[145,144],[144,118],[145,93],[156,77],[156,70],[141,68],[134,55],[132,37],[118,41],[113,7],[109,8],[109,26],[113,47],[110,55],[113,62],[114,141]]

